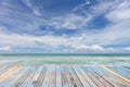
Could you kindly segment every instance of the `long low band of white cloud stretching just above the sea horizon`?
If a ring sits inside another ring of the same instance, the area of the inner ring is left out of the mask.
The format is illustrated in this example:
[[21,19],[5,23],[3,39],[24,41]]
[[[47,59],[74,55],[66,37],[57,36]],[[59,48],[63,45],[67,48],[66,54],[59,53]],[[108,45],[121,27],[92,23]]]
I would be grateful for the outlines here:
[[[99,37],[100,35],[96,35]],[[95,36],[94,36],[95,37]],[[29,36],[29,35],[17,35],[17,34],[0,34],[0,44],[11,46],[14,48],[42,48],[44,50],[48,50],[50,52],[56,50],[56,52],[119,52],[127,51],[123,48],[122,49],[116,49],[116,48],[105,48],[102,45],[99,44],[105,44],[106,38],[102,39],[95,38],[91,35],[81,35],[76,37],[66,37],[66,36],[52,36],[52,35],[46,35],[46,36]],[[108,38],[108,37],[107,37]],[[102,39],[102,40],[101,40]],[[109,42],[109,41],[108,41]],[[109,44],[108,44],[109,45]],[[61,48],[62,46],[62,48]],[[2,48],[2,50],[6,49],[10,50],[11,47]],[[64,47],[64,48],[63,48]],[[17,49],[14,49],[15,51]],[[18,49],[21,51],[21,49]],[[24,51],[27,51],[24,50]]]

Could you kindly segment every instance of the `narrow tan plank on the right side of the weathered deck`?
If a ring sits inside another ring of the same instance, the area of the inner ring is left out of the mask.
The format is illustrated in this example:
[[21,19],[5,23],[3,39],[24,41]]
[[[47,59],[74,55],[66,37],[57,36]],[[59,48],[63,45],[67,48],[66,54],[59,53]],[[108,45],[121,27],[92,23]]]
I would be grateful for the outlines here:
[[129,79],[129,78],[126,78],[125,76],[122,76],[122,75],[118,74],[117,72],[115,72],[115,71],[113,71],[113,70],[110,70],[110,69],[108,69],[107,66],[101,66],[101,67],[103,67],[104,70],[110,72],[112,74],[118,76],[119,78],[121,78],[121,79],[123,79],[123,80],[126,80],[127,83],[130,84],[130,79]]

